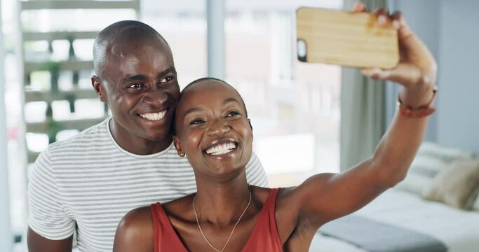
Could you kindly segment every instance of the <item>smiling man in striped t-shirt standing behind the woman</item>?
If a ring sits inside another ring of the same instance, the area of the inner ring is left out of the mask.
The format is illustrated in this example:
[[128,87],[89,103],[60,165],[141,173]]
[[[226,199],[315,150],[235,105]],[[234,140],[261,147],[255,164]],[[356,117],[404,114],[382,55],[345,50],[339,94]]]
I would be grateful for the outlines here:
[[[29,251],[112,251],[130,209],[194,193],[194,173],[173,146],[180,87],[168,43],[137,21],[121,21],[93,45],[92,85],[112,118],[48,146],[29,179]],[[252,156],[248,181],[267,186]]]

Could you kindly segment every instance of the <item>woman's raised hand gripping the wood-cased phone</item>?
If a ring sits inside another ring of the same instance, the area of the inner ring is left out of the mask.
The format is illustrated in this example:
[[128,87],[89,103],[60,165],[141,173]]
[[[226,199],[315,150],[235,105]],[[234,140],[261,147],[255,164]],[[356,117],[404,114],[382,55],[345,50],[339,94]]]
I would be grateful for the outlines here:
[[[358,2],[354,11],[365,11],[364,3]],[[393,69],[363,69],[363,75],[376,80],[391,80],[405,87],[400,94],[401,100],[408,106],[427,104],[436,87],[437,64],[424,43],[411,31],[403,15],[395,12],[389,15],[386,8],[376,13],[379,25],[388,25],[388,20],[398,30],[400,61]]]

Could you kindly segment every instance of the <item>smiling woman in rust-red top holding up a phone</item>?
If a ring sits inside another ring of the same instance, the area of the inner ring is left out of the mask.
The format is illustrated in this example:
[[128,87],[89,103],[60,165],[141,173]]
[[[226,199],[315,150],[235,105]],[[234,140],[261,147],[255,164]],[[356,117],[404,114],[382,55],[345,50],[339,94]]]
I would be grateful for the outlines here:
[[[379,22],[384,15],[378,11]],[[307,251],[321,225],[401,181],[433,112],[436,62],[400,13],[390,18],[398,29],[400,64],[363,73],[403,85],[403,105],[371,158],[295,188],[248,186],[252,127],[243,99],[222,80],[196,80],[177,104],[174,141],[194,167],[198,192],[130,211],[116,231],[114,251]]]

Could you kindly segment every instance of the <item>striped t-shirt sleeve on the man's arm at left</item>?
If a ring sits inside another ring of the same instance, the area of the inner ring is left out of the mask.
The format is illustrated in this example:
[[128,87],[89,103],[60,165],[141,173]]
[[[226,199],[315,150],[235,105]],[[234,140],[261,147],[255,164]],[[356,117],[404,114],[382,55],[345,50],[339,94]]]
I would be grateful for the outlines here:
[[42,237],[59,240],[73,235],[75,221],[65,213],[48,149],[36,159],[28,181],[28,225]]

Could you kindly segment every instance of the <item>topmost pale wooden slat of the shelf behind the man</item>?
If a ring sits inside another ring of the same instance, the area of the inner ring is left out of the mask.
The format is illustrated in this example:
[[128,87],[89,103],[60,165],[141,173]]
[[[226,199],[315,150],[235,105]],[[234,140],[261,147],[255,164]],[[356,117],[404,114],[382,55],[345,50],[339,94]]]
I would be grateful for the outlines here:
[[62,9],[139,9],[140,1],[20,1],[22,10],[62,10]]

